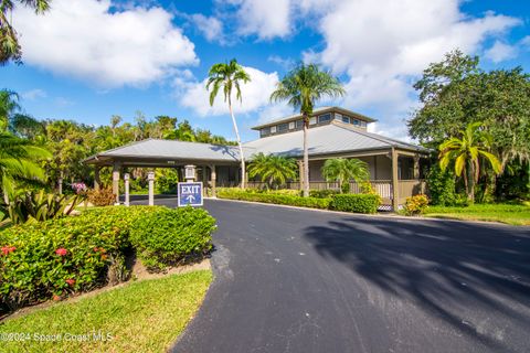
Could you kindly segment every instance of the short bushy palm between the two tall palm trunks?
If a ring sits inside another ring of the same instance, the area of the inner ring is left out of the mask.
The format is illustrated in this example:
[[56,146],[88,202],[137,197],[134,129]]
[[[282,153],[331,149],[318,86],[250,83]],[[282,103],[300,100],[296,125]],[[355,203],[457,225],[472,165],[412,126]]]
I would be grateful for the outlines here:
[[248,175],[251,178],[259,176],[262,182],[272,188],[274,184],[280,186],[287,180],[296,179],[296,161],[292,158],[259,152],[254,156],[248,165]]

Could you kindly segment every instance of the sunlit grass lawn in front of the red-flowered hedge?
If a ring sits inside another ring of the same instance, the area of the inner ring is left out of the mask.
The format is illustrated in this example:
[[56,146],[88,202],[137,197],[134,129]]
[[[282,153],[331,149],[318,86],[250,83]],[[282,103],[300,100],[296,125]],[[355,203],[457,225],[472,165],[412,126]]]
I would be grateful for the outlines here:
[[[95,296],[59,302],[0,323],[2,333],[29,333],[25,342],[7,342],[2,352],[165,352],[201,304],[212,280],[210,270],[131,282]],[[112,335],[94,340],[93,333]],[[56,342],[34,340],[62,334]],[[85,334],[87,342],[67,341]]]

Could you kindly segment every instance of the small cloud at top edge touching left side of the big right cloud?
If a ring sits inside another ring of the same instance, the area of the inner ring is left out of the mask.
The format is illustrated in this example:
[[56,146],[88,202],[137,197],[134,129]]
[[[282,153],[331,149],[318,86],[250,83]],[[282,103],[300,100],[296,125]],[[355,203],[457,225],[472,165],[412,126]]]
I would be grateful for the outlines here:
[[237,32],[242,35],[255,34],[261,40],[285,38],[293,30],[289,0],[227,0],[237,7]]

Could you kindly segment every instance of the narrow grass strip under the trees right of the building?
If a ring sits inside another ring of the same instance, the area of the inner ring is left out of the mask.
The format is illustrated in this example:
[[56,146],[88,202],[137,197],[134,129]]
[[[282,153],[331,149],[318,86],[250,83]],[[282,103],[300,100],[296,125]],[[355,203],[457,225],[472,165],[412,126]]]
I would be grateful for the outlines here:
[[530,206],[511,204],[475,204],[467,207],[430,206],[428,217],[467,221],[491,221],[511,225],[530,225]]

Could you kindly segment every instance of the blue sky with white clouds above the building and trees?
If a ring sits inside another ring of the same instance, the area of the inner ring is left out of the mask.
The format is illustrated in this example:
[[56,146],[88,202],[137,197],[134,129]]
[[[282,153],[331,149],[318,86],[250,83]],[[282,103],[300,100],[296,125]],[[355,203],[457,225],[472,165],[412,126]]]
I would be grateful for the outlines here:
[[530,3],[519,0],[53,0],[46,15],[19,8],[13,21],[24,65],[0,67],[0,86],[28,114],[102,125],[140,110],[233,138],[203,81],[213,63],[236,57],[253,78],[235,107],[244,140],[256,138],[250,127],[293,113],[268,96],[300,60],[344,83],[344,98],[321,105],[372,116],[374,131],[401,139],[417,105],[412,83],[447,51],[530,72]]

